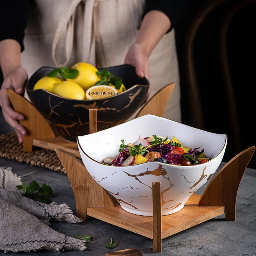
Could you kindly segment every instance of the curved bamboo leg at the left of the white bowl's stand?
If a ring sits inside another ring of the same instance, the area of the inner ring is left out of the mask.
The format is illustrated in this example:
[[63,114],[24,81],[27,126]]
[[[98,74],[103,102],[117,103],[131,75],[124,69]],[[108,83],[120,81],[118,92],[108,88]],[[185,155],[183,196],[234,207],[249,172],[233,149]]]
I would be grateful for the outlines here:
[[114,207],[112,198],[93,180],[83,163],[60,148],[56,148],[56,153],[74,191],[77,217],[86,221],[87,207]]

